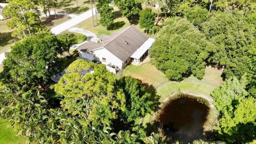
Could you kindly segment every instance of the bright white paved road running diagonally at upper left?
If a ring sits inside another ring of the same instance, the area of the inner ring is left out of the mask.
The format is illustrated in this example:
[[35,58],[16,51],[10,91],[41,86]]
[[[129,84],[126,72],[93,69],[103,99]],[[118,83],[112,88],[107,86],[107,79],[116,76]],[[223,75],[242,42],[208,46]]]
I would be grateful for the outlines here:
[[[93,11],[94,11],[93,14],[95,14],[95,8],[93,9]],[[61,32],[77,25],[78,23],[80,23],[80,22],[82,22],[82,21],[84,21],[84,20],[86,20],[90,17],[92,17],[92,10],[86,11],[86,12],[84,12],[81,15],[78,15],[78,16],[72,15],[71,20],[68,20],[66,22],[61,23],[60,25],[58,25],[56,27],[53,27],[51,29],[51,31],[52,31],[53,34],[58,35]],[[1,53],[0,54],[0,64],[3,63],[4,59],[5,59],[5,53]]]

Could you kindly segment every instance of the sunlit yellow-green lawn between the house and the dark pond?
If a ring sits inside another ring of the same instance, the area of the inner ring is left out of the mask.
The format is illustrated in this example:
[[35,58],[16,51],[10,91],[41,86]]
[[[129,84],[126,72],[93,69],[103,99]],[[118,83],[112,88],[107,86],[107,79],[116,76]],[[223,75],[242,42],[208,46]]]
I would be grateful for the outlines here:
[[[148,62],[141,66],[127,66],[123,71],[123,76],[131,76],[140,79],[142,83],[153,85],[156,89],[157,95],[160,97],[159,102],[163,102],[165,98],[170,97],[171,94],[178,91],[203,94],[206,95],[206,97],[210,97],[210,93],[214,88],[223,82],[220,77],[221,73],[222,70],[206,67],[202,81],[191,76],[189,79],[185,79],[182,82],[172,82],[168,81],[161,71],[157,70],[155,66]],[[193,81],[190,81],[190,79]],[[150,123],[153,120],[154,116],[148,114],[143,118],[143,125],[146,126],[147,123]],[[135,120],[135,124],[139,124],[139,122],[140,119]]]

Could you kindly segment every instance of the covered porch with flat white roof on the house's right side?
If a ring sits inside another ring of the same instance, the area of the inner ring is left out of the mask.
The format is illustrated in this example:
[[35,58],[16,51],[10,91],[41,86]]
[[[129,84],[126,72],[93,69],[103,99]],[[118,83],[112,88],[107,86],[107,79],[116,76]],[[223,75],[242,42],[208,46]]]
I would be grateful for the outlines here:
[[154,38],[148,38],[145,43],[143,43],[137,51],[135,51],[132,56],[132,64],[139,66],[140,62],[147,58],[149,55],[149,49],[155,42]]

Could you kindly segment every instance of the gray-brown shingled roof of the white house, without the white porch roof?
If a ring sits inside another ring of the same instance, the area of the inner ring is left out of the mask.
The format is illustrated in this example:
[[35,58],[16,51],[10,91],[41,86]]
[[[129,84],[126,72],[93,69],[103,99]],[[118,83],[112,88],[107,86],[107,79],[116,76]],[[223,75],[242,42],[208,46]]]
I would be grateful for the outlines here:
[[[100,37],[99,37],[100,38]],[[131,26],[110,35],[110,37],[102,36],[100,43],[86,43],[81,45],[77,50],[93,51],[104,47],[113,53],[118,59],[126,61],[131,55],[145,43],[148,36],[142,34],[138,29]]]

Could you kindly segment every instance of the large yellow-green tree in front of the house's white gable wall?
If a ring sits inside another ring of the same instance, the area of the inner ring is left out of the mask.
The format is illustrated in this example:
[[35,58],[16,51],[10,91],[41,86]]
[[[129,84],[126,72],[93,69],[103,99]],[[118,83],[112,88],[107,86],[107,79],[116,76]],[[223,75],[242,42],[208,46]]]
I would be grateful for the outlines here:
[[124,95],[114,94],[114,83],[114,75],[105,66],[76,60],[61,77],[55,91],[64,96],[61,107],[68,114],[83,117],[85,124],[110,126],[110,119],[117,117],[125,100]]

